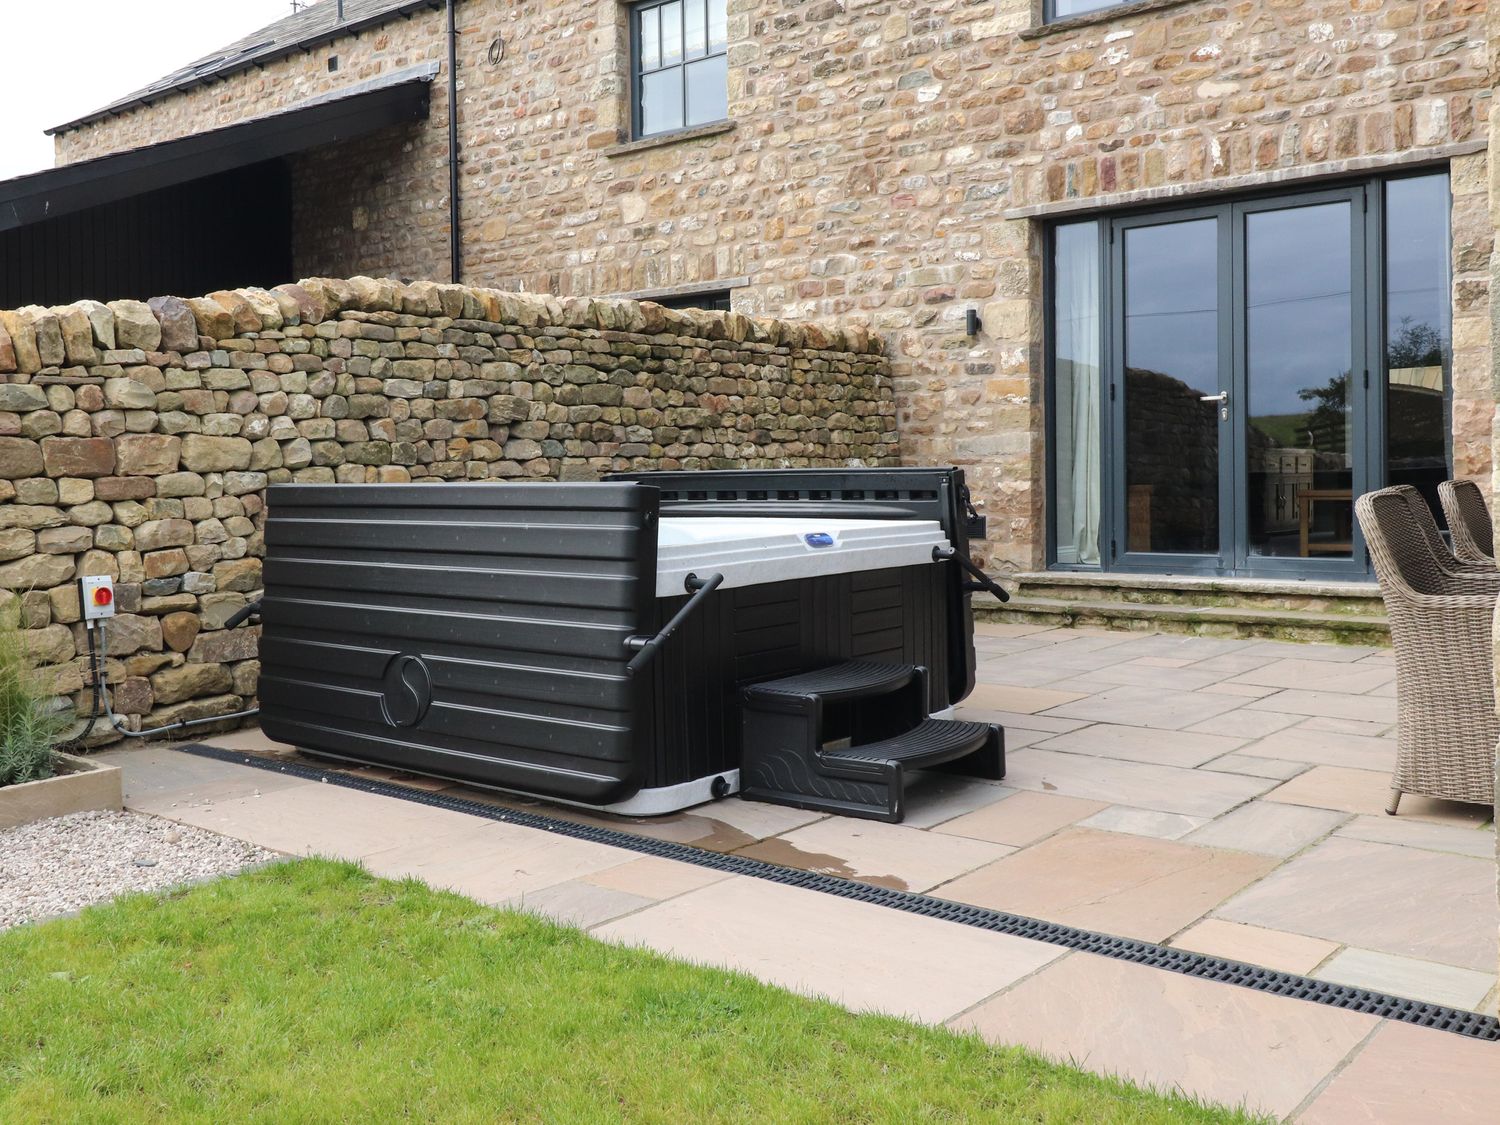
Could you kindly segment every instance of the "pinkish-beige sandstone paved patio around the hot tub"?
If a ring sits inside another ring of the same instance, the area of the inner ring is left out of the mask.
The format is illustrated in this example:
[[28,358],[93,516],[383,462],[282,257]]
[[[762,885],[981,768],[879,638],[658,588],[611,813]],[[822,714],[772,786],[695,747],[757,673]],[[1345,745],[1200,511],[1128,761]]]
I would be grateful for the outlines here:
[[[1008,777],[932,776],[902,825],[740,800],[622,822],[351,772],[1496,1014],[1494,826],[1414,796],[1383,813],[1388,651],[978,632],[962,712],[1006,726]],[[146,812],[1278,1116],[1462,1119],[1500,1096],[1480,1065],[1500,1048],[1455,1035],[170,750],[108,758]],[[1424,1095],[1434,1066],[1455,1084]]]

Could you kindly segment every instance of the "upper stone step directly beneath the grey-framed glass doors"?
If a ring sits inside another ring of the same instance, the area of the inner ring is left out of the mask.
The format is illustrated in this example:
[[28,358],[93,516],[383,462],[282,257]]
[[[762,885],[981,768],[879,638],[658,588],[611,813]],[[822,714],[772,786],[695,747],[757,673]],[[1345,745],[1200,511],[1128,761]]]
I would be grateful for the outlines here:
[[1143,606],[1294,610],[1384,616],[1374,582],[1286,582],[1182,574],[1088,574],[1036,572],[1017,576],[1022,598],[1108,602]]

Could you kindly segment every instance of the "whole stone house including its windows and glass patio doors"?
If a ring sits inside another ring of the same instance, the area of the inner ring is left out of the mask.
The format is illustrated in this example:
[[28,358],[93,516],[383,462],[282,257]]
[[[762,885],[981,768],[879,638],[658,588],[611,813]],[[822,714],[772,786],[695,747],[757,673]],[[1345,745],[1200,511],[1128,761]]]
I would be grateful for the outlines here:
[[294,278],[867,324],[1005,570],[1364,580],[1491,472],[1491,86],[1485,0],[321,0],[44,176],[256,129]]

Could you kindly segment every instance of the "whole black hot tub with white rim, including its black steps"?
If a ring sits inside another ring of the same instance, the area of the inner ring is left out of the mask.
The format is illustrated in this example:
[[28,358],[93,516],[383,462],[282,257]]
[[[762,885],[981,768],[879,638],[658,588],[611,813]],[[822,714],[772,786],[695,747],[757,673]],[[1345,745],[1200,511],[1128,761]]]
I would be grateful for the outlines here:
[[344,760],[648,816],[735,790],[900,820],[1004,774],[956,470],[268,494],[261,723]]

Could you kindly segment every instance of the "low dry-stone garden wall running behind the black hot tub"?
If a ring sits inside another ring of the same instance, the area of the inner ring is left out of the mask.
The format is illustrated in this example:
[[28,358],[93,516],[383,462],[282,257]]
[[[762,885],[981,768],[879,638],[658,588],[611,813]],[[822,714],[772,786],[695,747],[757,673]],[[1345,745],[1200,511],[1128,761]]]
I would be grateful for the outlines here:
[[228,714],[270,483],[894,465],[894,430],[861,327],[369,278],[0,312],[0,612],[87,710],[110,574],[116,711]]

